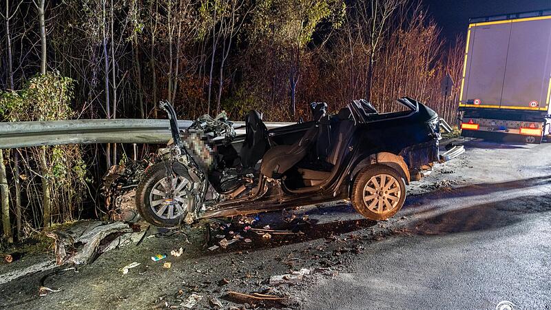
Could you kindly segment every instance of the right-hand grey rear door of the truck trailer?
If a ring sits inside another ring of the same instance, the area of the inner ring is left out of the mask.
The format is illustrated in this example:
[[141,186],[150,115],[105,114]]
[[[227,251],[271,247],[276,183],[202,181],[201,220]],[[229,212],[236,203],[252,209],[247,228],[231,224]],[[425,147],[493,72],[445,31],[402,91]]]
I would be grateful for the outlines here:
[[548,110],[551,17],[513,20],[501,108]]

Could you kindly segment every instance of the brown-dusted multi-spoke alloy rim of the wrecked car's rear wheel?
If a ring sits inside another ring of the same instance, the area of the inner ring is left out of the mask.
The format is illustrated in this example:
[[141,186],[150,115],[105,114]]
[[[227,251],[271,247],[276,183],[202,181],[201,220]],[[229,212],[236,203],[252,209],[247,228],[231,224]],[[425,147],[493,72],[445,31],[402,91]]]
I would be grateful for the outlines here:
[[398,180],[389,174],[372,176],[364,187],[364,204],[369,211],[385,214],[395,209],[402,197]]

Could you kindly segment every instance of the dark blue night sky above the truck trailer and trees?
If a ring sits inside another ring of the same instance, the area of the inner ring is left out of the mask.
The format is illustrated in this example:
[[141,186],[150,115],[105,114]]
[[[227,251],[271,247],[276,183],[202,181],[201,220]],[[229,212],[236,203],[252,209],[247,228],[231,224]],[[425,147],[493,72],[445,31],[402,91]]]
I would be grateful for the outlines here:
[[423,0],[423,3],[450,41],[457,34],[466,34],[469,17],[551,9],[551,0]]

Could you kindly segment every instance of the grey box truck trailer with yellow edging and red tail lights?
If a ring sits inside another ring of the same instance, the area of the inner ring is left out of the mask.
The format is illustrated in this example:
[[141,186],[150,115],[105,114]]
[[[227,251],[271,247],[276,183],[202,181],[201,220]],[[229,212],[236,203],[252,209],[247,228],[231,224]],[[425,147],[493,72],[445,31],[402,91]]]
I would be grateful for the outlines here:
[[469,20],[461,136],[541,143],[550,99],[551,9]]

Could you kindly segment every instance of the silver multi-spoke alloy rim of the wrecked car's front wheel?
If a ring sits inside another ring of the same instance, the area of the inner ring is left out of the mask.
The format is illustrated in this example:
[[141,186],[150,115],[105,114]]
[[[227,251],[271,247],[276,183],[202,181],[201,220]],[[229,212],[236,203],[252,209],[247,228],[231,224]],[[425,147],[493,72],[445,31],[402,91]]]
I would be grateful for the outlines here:
[[162,178],[155,183],[149,193],[149,207],[154,214],[165,220],[180,218],[186,213],[187,187],[189,180],[182,176]]

